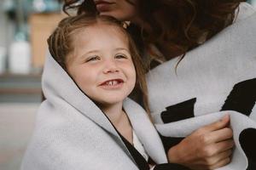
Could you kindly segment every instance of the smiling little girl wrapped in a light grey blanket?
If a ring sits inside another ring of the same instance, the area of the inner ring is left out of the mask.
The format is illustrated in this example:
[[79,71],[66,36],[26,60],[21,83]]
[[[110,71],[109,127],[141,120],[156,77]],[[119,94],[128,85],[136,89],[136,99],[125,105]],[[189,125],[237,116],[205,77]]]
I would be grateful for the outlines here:
[[136,84],[144,96],[147,88],[134,42],[117,20],[67,17],[48,42],[46,100],[21,169],[183,169],[163,164],[146,111],[127,98]]

